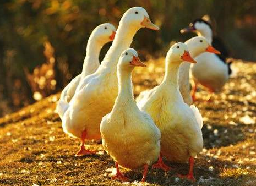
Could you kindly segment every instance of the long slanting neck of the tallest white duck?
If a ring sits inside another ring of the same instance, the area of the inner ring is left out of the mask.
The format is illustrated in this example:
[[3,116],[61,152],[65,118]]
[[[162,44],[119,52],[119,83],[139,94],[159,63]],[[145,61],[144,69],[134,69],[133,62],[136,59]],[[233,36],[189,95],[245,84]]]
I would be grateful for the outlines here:
[[120,23],[112,46],[101,62],[99,70],[108,68],[112,73],[116,73],[117,62],[121,53],[130,47],[130,44],[133,41],[133,36],[138,30],[139,28],[129,28],[129,25]]

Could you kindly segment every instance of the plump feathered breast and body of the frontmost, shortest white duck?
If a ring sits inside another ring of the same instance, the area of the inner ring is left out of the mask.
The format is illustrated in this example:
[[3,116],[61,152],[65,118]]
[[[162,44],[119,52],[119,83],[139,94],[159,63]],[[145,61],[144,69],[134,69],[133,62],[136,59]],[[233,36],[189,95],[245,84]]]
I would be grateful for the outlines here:
[[124,111],[127,108],[124,105],[102,119],[104,150],[126,168],[152,165],[160,153],[160,130],[147,113],[134,109]]

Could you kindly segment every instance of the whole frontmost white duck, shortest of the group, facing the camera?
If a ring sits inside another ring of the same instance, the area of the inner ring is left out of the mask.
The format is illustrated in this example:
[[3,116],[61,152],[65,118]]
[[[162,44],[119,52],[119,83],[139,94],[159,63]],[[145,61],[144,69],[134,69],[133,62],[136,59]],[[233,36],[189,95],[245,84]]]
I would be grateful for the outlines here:
[[119,59],[117,68],[118,96],[110,113],[102,118],[100,132],[104,150],[116,163],[116,176],[111,179],[127,181],[118,165],[129,169],[144,167],[146,179],[148,167],[160,154],[160,130],[144,111],[140,111],[133,97],[132,70],[145,67],[137,52],[129,48]]

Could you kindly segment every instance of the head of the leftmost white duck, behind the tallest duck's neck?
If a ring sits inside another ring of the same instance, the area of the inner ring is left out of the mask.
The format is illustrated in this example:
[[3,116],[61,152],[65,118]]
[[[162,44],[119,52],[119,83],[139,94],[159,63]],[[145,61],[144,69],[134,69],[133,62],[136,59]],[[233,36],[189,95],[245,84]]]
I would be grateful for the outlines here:
[[113,41],[116,28],[114,25],[110,23],[104,23],[97,26],[94,31],[92,31],[93,36],[99,41],[100,43],[107,43]]

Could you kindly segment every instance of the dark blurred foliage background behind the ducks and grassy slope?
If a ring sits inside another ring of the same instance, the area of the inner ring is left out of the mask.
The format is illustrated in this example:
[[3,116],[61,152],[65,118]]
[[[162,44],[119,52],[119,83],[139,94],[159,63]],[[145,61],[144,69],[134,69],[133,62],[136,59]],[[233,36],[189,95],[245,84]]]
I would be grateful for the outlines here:
[[[171,41],[185,41],[194,36],[179,34],[181,28],[209,14],[232,57],[251,61],[256,58],[255,0],[3,0],[0,2],[0,99],[7,101],[0,106],[0,114],[7,106],[20,107],[32,101],[24,68],[32,72],[45,63],[45,42],[50,42],[55,50],[57,89],[53,92],[56,92],[81,72],[86,41],[95,26],[105,22],[118,26],[122,14],[134,6],[144,7],[151,20],[161,27],[157,32],[141,29],[135,35],[132,47],[142,57],[165,55]],[[104,47],[101,58],[109,46]]]

